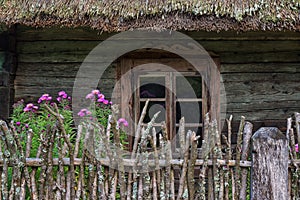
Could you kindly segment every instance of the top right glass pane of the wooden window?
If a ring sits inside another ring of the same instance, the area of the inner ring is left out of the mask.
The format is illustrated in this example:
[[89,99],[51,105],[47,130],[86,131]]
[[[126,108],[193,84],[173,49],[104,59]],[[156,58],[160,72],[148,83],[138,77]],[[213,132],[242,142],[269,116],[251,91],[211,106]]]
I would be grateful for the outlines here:
[[202,98],[201,76],[177,76],[177,98]]

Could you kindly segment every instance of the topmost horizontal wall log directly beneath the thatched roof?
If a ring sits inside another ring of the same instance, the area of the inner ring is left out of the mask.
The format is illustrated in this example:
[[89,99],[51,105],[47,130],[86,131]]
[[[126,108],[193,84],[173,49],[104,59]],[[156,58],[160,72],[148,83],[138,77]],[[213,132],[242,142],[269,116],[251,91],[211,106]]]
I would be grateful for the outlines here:
[[[20,41],[35,40],[104,40],[116,33],[99,32],[90,28],[32,28],[18,26],[17,39]],[[58,34],[59,33],[59,34]],[[299,33],[293,31],[249,31],[237,33],[236,31],[206,32],[206,31],[183,31],[196,40],[299,40]]]

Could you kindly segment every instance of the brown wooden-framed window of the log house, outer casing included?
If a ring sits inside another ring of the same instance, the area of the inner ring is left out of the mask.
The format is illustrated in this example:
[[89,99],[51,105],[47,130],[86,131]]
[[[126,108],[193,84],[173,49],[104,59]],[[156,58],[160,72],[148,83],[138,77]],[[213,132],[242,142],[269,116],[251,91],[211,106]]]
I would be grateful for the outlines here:
[[[122,115],[137,124],[147,99],[149,105],[143,126],[160,111],[154,127],[159,133],[162,121],[166,122],[168,137],[174,138],[179,120],[185,117],[186,130],[197,135],[203,132],[203,118],[211,111],[210,96],[215,95],[219,81],[204,81],[210,74],[209,62],[203,60],[199,69],[183,59],[123,59],[121,61]],[[212,92],[210,91],[212,90]],[[210,92],[209,92],[210,91]],[[216,116],[216,115],[215,115]],[[128,131],[134,131],[135,125]],[[173,147],[176,147],[176,143]]]

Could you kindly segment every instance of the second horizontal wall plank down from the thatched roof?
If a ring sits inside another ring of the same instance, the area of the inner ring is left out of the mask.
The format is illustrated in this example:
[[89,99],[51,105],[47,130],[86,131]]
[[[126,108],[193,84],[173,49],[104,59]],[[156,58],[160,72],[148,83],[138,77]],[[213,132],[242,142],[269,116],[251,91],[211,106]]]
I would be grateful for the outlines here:
[[[143,42],[150,43],[152,40],[143,40]],[[136,39],[118,41],[124,45],[136,42]],[[197,41],[207,51],[216,53],[222,52],[286,52],[286,51],[300,51],[299,41]],[[45,52],[86,52],[92,50],[101,41],[30,41],[18,42],[17,52],[26,53],[45,53]],[[185,40],[177,40],[176,43],[184,44]]]

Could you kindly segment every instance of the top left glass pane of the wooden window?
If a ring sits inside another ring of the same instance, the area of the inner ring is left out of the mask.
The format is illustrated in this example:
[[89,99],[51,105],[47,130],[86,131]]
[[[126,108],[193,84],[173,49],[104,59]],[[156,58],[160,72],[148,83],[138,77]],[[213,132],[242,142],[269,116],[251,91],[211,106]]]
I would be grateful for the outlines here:
[[165,98],[165,77],[140,77],[140,98]]

